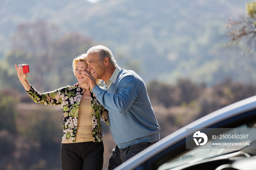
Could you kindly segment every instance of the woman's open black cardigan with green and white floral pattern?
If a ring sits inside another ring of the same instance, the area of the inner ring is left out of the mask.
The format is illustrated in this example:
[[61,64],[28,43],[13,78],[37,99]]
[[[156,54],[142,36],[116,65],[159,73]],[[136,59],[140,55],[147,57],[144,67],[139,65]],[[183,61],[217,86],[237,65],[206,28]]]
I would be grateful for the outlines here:
[[[27,91],[35,103],[44,105],[60,105],[63,109],[63,140],[75,142],[78,123],[79,103],[84,89],[78,86],[67,86],[52,92],[40,93],[33,86]],[[98,102],[95,94],[91,91],[91,121],[93,127],[93,142],[101,142],[103,130],[101,116],[108,123],[108,111]]]

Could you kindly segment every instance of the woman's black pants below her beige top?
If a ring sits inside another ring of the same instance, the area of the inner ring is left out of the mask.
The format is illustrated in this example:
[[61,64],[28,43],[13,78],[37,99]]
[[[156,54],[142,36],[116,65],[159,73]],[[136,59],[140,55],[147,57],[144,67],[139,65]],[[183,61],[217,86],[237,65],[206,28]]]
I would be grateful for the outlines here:
[[102,170],[103,142],[61,144],[63,170]]

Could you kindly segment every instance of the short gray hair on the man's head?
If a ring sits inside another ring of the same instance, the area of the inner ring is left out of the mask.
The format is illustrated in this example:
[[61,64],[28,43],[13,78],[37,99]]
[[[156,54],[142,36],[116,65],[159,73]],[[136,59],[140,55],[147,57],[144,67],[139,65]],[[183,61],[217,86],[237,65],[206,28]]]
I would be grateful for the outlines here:
[[87,55],[89,53],[98,53],[99,55],[99,60],[103,62],[105,57],[109,58],[109,63],[112,64],[113,66],[117,66],[116,60],[114,59],[114,56],[112,52],[108,49],[108,47],[98,45],[98,46],[93,46],[89,50],[87,50]]

